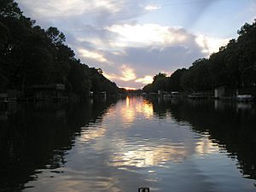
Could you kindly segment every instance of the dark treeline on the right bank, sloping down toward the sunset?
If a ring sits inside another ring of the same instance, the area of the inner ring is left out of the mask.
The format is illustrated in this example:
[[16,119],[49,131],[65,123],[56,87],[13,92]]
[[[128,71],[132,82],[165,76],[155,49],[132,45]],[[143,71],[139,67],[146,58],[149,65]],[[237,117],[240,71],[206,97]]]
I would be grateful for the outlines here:
[[219,48],[218,53],[194,61],[188,69],[177,69],[170,77],[154,76],[144,91],[205,91],[219,86],[236,90],[256,89],[256,20],[237,32],[239,37]]

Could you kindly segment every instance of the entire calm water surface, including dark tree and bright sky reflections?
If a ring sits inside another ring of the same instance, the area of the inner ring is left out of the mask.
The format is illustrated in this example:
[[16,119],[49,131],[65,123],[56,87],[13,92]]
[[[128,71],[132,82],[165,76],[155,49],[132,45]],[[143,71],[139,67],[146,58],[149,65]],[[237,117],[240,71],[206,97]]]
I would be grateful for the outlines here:
[[0,111],[0,191],[256,191],[249,103],[142,97]]

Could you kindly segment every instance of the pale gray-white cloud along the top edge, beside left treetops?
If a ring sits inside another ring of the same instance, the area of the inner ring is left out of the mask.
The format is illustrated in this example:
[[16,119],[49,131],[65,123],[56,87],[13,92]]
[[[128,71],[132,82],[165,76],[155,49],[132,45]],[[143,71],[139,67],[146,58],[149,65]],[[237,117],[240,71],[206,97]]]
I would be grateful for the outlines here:
[[[49,24],[61,20],[60,25],[86,23],[94,26],[108,26],[113,23],[124,23],[144,15],[145,11],[140,3],[133,0],[17,0],[26,15]],[[73,24],[72,24],[73,23]]]

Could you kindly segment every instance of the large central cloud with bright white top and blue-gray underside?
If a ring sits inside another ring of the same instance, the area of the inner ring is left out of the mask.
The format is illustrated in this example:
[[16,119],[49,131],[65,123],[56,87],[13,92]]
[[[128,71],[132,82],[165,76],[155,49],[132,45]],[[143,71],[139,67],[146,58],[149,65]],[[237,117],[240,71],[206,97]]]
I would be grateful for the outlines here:
[[108,59],[128,63],[141,75],[173,71],[177,67],[189,66],[195,59],[206,55],[195,41],[197,37],[183,28],[126,25],[120,28],[114,26],[110,32],[117,32],[110,44],[115,44],[114,47],[122,49],[124,54],[110,54]]

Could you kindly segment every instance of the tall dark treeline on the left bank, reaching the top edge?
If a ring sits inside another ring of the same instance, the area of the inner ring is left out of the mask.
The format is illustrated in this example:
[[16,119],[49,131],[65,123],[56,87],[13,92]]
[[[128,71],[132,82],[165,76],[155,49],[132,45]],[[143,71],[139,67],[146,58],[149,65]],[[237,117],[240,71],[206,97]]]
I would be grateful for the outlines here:
[[26,90],[35,84],[66,84],[68,92],[80,96],[89,91],[116,94],[117,85],[101,69],[76,59],[65,40],[57,28],[44,30],[24,16],[14,0],[1,0],[0,92]]

